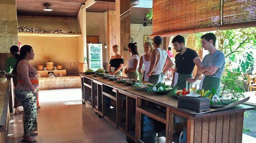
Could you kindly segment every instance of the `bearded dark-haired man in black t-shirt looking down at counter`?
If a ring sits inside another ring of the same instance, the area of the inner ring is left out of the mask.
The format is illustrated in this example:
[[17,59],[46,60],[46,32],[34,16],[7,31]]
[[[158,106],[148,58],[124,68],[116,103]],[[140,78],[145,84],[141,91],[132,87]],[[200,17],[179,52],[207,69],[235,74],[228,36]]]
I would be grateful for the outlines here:
[[[172,40],[173,48],[179,52],[175,56],[175,69],[172,78],[172,85],[178,86],[179,89],[186,88],[186,80],[188,83],[197,81],[200,74],[192,78],[194,66],[200,66],[202,63],[197,53],[185,46],[185,38],[177,35]],[[189,84],[188,84],[189,87]]]

